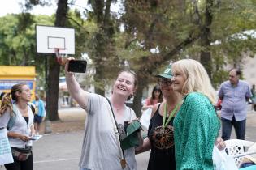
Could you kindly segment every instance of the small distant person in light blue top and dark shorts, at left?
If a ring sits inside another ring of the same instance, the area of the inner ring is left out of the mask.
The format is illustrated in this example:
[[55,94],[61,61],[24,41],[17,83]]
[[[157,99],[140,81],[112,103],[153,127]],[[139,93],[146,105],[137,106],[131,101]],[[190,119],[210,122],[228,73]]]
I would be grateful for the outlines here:
[[46,113],[45,103],[43,102],[43,100],[39,98],[38,94],[36,94],[35,100],[33,100],[32,103],[35,106],[35,115],[34,115],[35,130],[36,130],[36,134],[39,134],[41,121]]

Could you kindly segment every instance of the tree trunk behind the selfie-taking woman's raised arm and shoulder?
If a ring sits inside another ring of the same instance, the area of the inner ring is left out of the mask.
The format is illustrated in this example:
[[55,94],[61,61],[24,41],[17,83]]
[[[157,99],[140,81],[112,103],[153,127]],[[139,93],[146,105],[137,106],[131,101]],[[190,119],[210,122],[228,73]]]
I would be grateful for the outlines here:
[[[95,66],[94,74],[94,87],[95,93],[104,96],[105,95],[105,84],[103,79],[105,79],[105,73],[107,67],[111,66],[109,58],[111,57],[111,39],[115,34],[113,31],[112,21],[111,21],[111,2],[112,0],[103,0],[91,1],[93,6],[94,15],[98,25],[99,31],[96,33],[96,46],[94,49],[93,59]],[[113,55],[112,55],[113,56]],[[105,58],[105,59],[103,59]]]

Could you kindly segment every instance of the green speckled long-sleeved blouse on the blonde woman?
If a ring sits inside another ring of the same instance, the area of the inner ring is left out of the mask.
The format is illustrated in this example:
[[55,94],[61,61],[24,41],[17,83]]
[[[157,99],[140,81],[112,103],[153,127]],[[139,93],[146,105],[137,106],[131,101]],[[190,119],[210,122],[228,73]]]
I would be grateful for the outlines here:
[[185,96],[174,120],[176,170],[214,169],[212,151],[220,122],[210,100],[198,92]]

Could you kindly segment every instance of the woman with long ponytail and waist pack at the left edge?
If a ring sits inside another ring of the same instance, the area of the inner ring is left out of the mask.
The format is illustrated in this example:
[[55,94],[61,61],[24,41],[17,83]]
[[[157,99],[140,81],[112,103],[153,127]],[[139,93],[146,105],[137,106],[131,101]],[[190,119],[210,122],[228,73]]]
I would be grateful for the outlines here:
[[0,127],[7,127],[7,136],[11,146],[14,162],[5,164],[7,170],[33,170],[32,137],[35,135],[33,125],[33,106],[28,104],[32,93],[26,83],[11,87],[0,108]]

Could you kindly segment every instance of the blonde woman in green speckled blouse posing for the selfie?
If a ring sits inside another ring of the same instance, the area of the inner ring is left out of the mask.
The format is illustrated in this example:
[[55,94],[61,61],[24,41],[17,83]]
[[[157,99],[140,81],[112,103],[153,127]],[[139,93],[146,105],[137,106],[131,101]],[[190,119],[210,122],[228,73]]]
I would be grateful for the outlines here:
[[173,90],[184,98],[173,121],[176,169],[214,169],[212,153],[220,128],[215,89],[195,60],[174,62],[171,70]]

